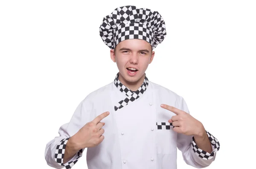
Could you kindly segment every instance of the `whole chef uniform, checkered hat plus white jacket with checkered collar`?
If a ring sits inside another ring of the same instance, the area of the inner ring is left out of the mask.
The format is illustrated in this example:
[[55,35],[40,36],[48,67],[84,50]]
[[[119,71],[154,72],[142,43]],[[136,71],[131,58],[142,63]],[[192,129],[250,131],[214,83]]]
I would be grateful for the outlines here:
[[[111,49],[126,39],[142,39],[154,49],[166,36],[165,23],[157,11],[122,6],[104,17],[100,36]],[[196,168],[209,166],[220,148],[218,140],[207,130],[212,152],[199,149],[194,137],[173,130],[168,123],[175,113],[161,104],[174,106],[189,113],[183,97],[145,79],[137,91],[131,91],[119,81],[91,92],[76,108],[69,123],[62,125],[59,136],[47,143],[45,159],[56,169],[70,169],[81,158],[79,150],[63,163],[68,139],[86,123],[103,112],[110,112],[101,122],[105,139],[98,146],[87,148],[88,169],[177,169],[177,149],[184,161]]]

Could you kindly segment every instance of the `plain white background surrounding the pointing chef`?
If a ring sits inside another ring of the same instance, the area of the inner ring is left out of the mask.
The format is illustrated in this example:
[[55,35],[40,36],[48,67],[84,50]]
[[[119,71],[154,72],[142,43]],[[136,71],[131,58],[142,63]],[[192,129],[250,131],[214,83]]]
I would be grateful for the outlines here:
[[[129,2],[129,3],[128,3]],[[253,168],[256,3],[251,0],[1,0],[1,168],[50,169],[47,142],[118,69],[99,36],[119,6],[158,11],[167,36],[146,74],[181,95],[221,143],[209,169]],[[85,154],[85,153],[84,153]],[[178,152],[178,169],[192,169]],[[87,169],[86,156],[73,169]]]

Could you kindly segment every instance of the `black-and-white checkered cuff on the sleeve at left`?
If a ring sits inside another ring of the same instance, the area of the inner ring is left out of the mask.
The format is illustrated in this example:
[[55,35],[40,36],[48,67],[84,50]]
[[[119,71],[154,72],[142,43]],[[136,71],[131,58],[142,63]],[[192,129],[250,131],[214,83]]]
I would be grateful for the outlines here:
[[60,164],[61,166],[64,166],[66,169],[71,169],[71,167],[75,165],[75,163],[79,160],[79,158],[81,158],[81,156],[83,154],[83,149],[81,149],[81,150],[79,150],[79,152],[77,152],[77,155],[75,155],[75,157],[73,157],[73,159],[75,158],[74,160],[71,160],[70,162],[67,162],[67,163],[63,163],[67,140],[69,138],[70,137],[62,139],[58,143],[58,145],[56,147],[56,151],[55,151],[55,161],[58,164]]

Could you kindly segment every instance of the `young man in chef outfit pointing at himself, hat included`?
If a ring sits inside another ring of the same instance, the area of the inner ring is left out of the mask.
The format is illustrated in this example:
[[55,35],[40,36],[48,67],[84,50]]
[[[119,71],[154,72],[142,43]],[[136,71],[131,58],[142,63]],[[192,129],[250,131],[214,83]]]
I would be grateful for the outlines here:
[[176,169],[178,148],[188,165],[209,166],[218,140],[189,115],[183,97],[145,75],[152,50],[166,37],[161,15],[119,7],[104,17],[100,36],[119,72],[85,97],[47,143],[47,164],[70,169],[87,148],[88,169]]

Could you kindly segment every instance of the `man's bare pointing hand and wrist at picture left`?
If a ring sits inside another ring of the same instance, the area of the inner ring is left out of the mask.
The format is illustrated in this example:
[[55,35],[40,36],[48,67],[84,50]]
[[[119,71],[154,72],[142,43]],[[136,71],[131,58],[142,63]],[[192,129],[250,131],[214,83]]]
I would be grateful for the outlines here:
[[109,112],[104,112],[97,116],[91,122],[86,123],[75,135],[70,137],[68,142],[74,145],[76,151],[87,147],[94,147],[99,145],[104,140],[102,135],[105,131],[102,126],[101,120],[109,115]]

